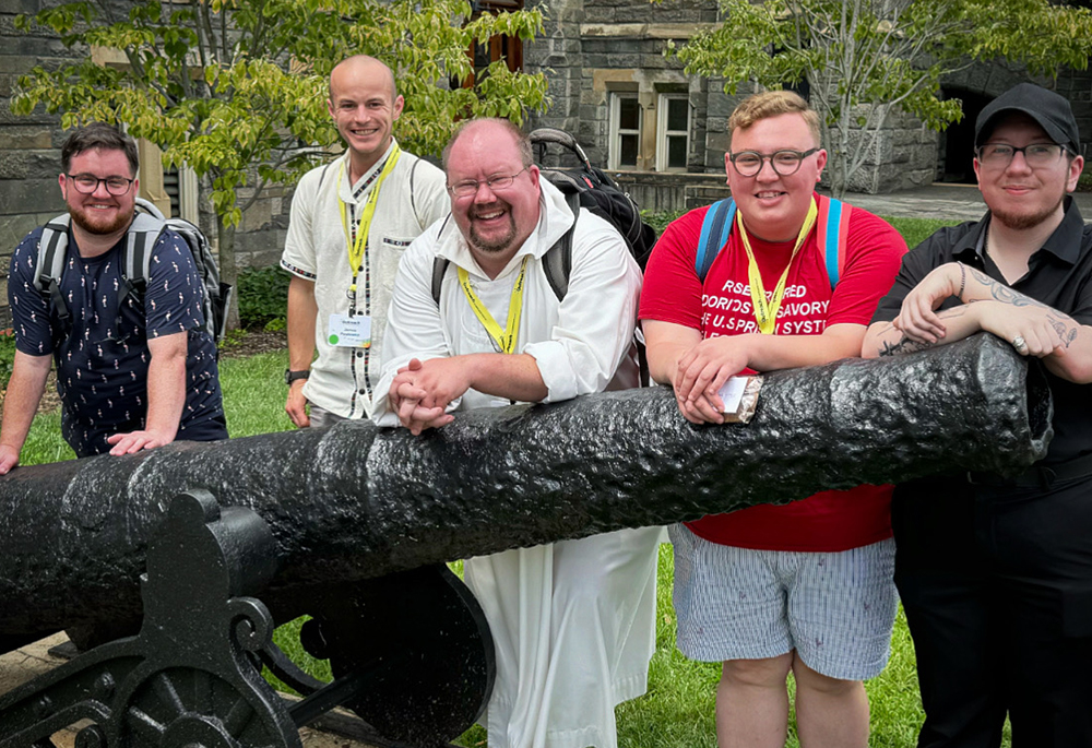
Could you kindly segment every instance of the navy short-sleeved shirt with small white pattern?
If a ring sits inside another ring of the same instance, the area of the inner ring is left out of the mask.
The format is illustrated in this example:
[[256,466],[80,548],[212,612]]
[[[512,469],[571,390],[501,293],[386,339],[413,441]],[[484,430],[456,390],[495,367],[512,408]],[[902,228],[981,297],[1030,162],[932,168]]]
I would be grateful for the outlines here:
[[216,347],[202,330],[204,287],[186,240],[163,231],[152,249],[143,304],[130,294],[119,310],[124,238],[98,257],[81,258],[70,234],[60,290],[71,321],[63,324],[33,284],[40,237],[41,228],[32,231],[11,260],[8,299],[15,346],[32,356],[54,356],[62,432],[76,454],[107,452],[107,437],[144,428],[152,360],[147,339],[178,333],[188,335],[188,352],[186,405],[176,439],[226,438]]

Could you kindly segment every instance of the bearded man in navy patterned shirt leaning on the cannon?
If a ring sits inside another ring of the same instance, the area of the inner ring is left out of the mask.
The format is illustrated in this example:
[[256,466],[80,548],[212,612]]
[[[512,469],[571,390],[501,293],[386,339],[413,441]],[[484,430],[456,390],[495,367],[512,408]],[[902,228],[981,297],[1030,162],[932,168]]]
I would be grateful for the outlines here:
[[62,320],[35,287],[43,231],[36,228],[12,256],[8,282],[16,351],[0,475],[19,463],[50,357],[64,440],[81,458],[226,438],[216,348],[202,328],[204,287],[186,240],[164,230],[143,299],[120,292],[139,188],[136,144],[108,124],[91,124],[66,141],[61,166],[72,221],[59,290],[70,317]]

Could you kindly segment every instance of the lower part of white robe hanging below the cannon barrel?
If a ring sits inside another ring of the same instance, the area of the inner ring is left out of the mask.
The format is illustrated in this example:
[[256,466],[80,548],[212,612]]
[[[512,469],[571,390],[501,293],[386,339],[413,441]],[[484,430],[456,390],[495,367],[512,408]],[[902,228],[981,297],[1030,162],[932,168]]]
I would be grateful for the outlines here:
[[616,748],[656,648],[657,527],[467,559],[497,649],[490,748]]

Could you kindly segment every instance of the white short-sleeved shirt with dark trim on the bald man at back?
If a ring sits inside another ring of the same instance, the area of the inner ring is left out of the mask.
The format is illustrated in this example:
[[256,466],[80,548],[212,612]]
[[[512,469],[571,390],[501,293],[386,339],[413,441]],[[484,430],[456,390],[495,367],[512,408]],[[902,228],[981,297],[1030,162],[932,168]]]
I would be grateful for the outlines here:
[[[288,238],[281,256],[282,268],[314,282],[314,300],[319,308],[314,325],[314,346],[319,355],[311,364],[304,395],[319,407],[345,418],[371,415],[375,385],[380,377],[387,308],[402,254],[429,224],[451,210],[443,173],[403,151],[379,191],[364,261],[357,273],[355,301],[351,300],[353,272],[348,241],[356,239],[365,203],[393,147],[392,140],[383,157],[355,185],[348,183],[347,152],[344,157],[304,175],[293,197]],[[340,203],[345,205],[349,237],[346,237]],[[370,347],[330,344],[331,314],[349,313],[371,318]]]

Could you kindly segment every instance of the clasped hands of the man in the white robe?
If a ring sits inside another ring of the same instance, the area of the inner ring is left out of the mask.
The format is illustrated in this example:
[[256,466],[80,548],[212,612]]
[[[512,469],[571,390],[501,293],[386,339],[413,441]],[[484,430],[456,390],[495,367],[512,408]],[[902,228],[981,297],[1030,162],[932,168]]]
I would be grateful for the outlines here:
[[388,393],[399,422],[415,436],[429,428],[447,426],[454,416],[448,405],[471,387],[465,367],[455,358],[413,358],[399,369]]

